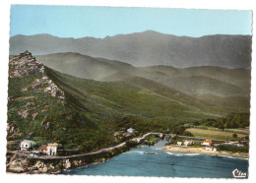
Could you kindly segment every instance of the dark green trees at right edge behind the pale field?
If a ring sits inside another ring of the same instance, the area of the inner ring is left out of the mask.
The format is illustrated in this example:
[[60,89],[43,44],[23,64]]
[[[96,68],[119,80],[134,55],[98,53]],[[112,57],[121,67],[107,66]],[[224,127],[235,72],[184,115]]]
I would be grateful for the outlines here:
[[245,128],[250,125],[250,114],[239,113],[239,114],[230,114],[227,117],[219,118],[219,119],[204,119],[204,120],[195,122],[194,125],[216,127],[219,129]]

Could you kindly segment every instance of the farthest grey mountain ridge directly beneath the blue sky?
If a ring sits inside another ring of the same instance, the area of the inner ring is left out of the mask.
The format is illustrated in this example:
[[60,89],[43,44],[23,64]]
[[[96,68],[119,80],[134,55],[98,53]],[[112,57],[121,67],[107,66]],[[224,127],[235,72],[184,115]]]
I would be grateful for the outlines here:
[[251,35],[189,37],[153,30],[104,38],[15,35],[10,38],[10,55],[28,49],[34,55],[78,52],[142,67],[167,65],[176,68],[219,66],[250,69],[251,42]]

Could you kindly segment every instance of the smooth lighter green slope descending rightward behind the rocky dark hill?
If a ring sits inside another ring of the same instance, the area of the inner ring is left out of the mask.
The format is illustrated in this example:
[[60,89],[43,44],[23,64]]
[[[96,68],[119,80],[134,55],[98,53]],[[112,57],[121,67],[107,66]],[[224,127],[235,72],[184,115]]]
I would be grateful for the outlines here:
[[[76,102],[92,117],[114,121],[123,115],[137,115],[171,122],[186,122],[216,117],[206,109],[181,102],[173,93],[160,93],[157,88],[141,88],[127,82],[96,82],[78,79],[48,69],[47,75],[67,93],[68,101]],[[147,81],[147,80],[146,80]],[[150,82],[150,81],[149,81]],[[205,107],[204,107],[205,108]]]

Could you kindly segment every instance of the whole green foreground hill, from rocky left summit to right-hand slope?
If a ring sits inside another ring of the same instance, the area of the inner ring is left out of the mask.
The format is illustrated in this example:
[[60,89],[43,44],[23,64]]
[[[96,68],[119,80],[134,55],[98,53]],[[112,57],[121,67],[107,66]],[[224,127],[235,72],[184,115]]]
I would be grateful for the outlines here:
[[121,143],[115,131],[165,132],[223,116],[219,108],[154,81],[80,79],[44,66],[30,52],[9,59],[8,87],[7,140],[13,150],[19,149],[15,141],[29,138],[60,143],[73,153],[92,152]]

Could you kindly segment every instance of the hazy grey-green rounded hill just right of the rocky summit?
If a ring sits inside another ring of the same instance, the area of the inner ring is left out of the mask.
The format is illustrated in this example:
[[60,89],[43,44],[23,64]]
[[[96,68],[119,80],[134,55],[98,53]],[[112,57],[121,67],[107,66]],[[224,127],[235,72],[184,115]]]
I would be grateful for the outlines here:
[[103,80],[116,72],[129,72],[133,66],[118,61],[96,59],[79,53],[57,53],[36,56],[45,66],[78,78]]

